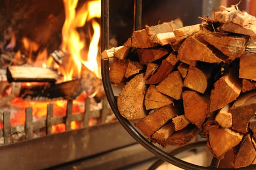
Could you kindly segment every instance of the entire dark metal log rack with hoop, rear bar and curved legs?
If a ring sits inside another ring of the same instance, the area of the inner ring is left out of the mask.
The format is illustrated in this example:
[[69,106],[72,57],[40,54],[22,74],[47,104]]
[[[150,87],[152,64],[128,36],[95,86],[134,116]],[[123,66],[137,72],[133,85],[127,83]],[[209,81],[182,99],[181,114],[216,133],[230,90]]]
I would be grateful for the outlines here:
[[[134,28],[135,30],[138,30],[141,28],[141,8],[142,6],[142,0],[134,0]],[[109,41],[109,0],[102,0],[101,1],[101,52],[106,50],[108,47],[108,41]],[[117,102],[115,95],[113,93],[113,89],[110,83],[109,78],[109,59],[101,59],[101,76],[102,76],[102,83],[103,87],[105,89],[105,93],[108,99],[108,102],[110,104],[111,109],[113,110],[116,118],[119,120],[119,123],[126,129],[126,131],[138,142],[140,143],[144,148],[149,150],[150,152],[154,153],[159,160],[156,161],[149,169],[155,169],[164,161],[167,163],[170,163],[172,165],[175,165],[177,167],[183,168],[183,169],[194,169],[194,170],[203,170],[203,169],[256,169],[256,165],[250,165],[247,167],[241,167],[241,168],[218,168],[219,160],[217,158],[212,159],[210,166],[204,167],[204,166],[198,166],[195,164],[188,163],[187,161],[183,161],[175,155],[177,155],[180,152],[188,151],[191,149],[195,149],[198,147],[202,147],[206,145],[206,141],[199,141],[194,143],[189,143],[183,147],[179,147],[170,153],[167,153],[166,151],[162,150],[161,148],[157,147],[150,141],[148,141],[143,135],[141,135],[140,132],[137,131],[137,129],[134,128],[134,126],[129,122],[129,120],[125,119],[121,116],[119,113],[119,110],[117,108]]]

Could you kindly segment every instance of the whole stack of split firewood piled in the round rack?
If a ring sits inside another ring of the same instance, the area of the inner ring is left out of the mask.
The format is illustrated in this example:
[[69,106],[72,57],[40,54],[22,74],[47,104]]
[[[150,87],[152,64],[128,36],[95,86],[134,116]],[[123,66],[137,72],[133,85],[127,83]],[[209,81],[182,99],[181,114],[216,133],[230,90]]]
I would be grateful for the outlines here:
[[152,143],[188,144],[197,134],[219,159],[256,164],[256,18],[237,5],[183,27],[180,19],[134,31],[114,58],[120,114]]

